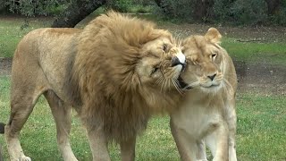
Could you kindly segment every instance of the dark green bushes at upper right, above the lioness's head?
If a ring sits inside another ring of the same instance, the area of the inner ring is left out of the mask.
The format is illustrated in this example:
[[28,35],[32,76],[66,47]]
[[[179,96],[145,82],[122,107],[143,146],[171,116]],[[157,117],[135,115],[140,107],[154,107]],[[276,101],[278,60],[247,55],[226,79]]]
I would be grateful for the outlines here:
[[265,0],[161,0],[168,19],[232,23],[236,25],[286,24],[286,0],[281,0],[273,15],[268,15]]

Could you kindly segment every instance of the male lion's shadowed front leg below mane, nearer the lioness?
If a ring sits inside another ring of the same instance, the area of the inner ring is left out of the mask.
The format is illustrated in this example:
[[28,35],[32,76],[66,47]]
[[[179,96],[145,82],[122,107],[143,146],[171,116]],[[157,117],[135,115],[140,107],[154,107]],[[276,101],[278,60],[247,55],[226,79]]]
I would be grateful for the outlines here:
[[120,142],[122,161],[133,161],[135,159],[136,137]]

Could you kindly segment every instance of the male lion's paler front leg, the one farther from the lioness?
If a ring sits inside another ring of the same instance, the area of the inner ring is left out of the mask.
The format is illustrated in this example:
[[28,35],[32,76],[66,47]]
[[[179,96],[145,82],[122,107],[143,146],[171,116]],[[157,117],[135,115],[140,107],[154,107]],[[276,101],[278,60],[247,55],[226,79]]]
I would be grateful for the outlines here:
[[93,160],[110,161],[103,127],[98,127],[97,129],[91,127],[92,126],[87,125],[89,146],[91,148]]

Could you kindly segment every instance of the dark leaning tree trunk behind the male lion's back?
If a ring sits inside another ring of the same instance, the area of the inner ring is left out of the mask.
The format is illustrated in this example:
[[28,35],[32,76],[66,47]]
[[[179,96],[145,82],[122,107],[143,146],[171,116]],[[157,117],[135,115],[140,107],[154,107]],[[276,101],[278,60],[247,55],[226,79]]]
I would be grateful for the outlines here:
[[106,0],[77,0],[55,19],[52,28],[73,28],[90,13],[106,3]]

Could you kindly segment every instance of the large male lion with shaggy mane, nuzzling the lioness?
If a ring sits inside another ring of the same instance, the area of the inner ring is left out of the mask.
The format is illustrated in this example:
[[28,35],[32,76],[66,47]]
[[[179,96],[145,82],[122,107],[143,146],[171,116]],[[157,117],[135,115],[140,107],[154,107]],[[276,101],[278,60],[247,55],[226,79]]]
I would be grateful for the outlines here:
[[69,143],[71,107],[88,132],[93,160],[110,160],[107,143],[134,160],[136,136],[151,114],[172,111],[185,56],[170,32],[149,21],[109,12],[83,30],[39,29],[21,39],[12,67],[11,115],[5,140],[12,160],[30,160],[19,141],[44,94],[55,118],[63,160],[77,160]]

